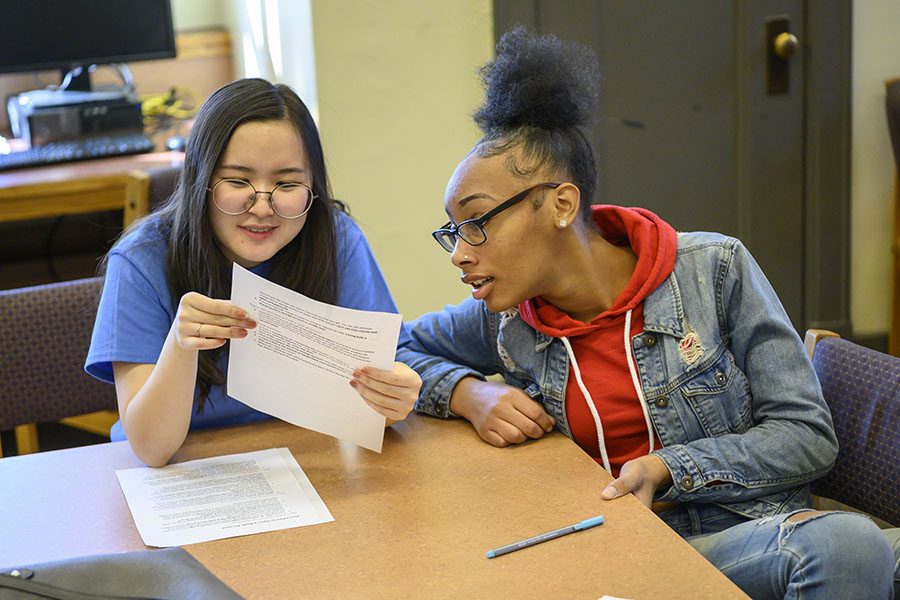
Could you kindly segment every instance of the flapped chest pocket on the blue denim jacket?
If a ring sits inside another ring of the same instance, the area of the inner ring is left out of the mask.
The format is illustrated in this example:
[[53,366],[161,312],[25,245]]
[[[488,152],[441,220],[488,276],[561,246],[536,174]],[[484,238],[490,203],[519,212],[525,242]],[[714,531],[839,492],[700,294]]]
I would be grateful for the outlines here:
[[752,425],[750,385],[724,347],[680,391],[707,437],[744,433]]

